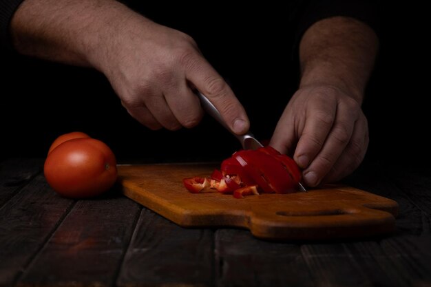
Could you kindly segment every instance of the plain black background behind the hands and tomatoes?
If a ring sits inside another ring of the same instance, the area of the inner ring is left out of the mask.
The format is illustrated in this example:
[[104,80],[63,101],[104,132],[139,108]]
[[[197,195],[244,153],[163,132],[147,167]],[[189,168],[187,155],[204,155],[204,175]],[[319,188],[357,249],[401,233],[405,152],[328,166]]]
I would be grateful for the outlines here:
[[[269,139],[297,81],[282,8],[162,6],[144,9],[154,21],[193,36],[246,107],[255,136]],[[367,160],[428,164],[431,158],[427,19],[420,6],[392,6],[381,15],[381,49],[363,106]],[[92,69],[10,54],[0,69],[2,158],[45,157],[52,140],[70,131],[105,141],[123,162],[220,160],[240,148],[209,116],[193,129],[150,131]]]

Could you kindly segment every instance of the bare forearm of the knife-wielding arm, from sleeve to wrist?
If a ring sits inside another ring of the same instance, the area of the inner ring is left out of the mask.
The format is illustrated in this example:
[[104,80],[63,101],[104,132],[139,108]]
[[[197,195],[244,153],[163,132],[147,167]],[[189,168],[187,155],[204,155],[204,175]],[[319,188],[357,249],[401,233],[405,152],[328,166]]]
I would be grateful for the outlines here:
[[114,0],[25,0],[10,24],[12,43],[21,54],[99,68],[107,37],[133,18]]

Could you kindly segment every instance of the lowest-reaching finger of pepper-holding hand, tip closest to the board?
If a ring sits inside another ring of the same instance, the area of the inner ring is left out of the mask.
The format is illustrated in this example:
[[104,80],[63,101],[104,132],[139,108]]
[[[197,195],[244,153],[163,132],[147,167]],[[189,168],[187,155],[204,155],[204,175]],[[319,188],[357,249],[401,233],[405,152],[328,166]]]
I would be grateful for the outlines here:
[[304,182],[308,186],[317,186],[337,162],[350,141],[357,118],[357,111],[348,109],[344,102],[339,103],[335,122],[321,151],[304,171]]

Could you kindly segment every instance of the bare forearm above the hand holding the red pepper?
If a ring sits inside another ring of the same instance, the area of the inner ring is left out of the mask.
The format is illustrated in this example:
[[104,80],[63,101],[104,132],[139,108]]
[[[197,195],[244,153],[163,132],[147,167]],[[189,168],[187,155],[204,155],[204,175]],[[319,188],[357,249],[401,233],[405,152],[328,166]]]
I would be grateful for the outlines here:
[[361,104],[377,48],[375,32],[364,23],[347,17],[318,21],[299,45],[300,86],[341,88]]

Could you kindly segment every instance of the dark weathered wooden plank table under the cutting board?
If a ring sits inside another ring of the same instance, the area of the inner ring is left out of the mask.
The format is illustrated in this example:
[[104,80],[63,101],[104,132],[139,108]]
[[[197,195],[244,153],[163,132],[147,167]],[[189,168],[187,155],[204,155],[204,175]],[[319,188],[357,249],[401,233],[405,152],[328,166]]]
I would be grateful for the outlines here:
[[399,203],[397,231],[267,242],[182,228],[121,195],[70,200],[43,159],[0,162],[0,286],[431,286],[431,170],[364,164],[347,183]]

